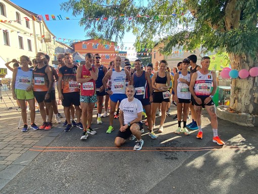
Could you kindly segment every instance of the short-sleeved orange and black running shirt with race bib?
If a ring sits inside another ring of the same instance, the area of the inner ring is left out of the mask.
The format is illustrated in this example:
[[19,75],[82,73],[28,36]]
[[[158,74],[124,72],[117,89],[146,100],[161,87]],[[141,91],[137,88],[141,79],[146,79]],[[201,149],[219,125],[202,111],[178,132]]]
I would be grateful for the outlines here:
[[78,92],[79,86],[76,81],[77,66],[73,65],[72,68],[67,66],[60,67],[58,75],[63,75],[63,93]]

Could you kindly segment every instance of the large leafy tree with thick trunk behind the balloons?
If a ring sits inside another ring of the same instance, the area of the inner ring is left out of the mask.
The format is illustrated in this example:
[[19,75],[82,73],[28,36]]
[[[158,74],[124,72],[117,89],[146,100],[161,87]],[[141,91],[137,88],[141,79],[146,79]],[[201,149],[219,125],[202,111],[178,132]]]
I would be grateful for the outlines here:
[[[204,47],[226,50],[232,69],[258,66],[258,0],[69,0],[61,9],[82,14],[79,24],[93,38],[121,41],[132,31],[138,50],[166,37],[164,54]],[[232,79],[230,109],[258,114],[257,85],[254,77]]]

